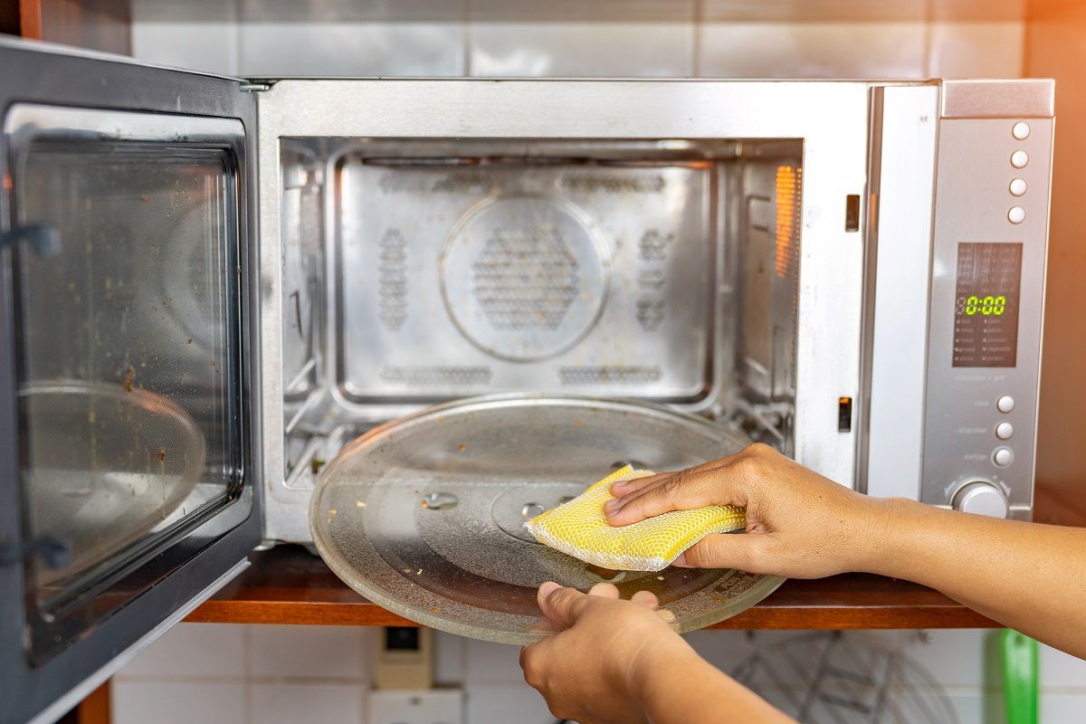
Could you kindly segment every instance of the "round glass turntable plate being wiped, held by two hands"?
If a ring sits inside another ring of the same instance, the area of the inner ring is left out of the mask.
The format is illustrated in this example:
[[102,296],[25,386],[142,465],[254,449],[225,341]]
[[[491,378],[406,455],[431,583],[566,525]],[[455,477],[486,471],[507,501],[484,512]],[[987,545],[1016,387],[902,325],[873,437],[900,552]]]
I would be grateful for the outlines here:
[[412,621],[507,644],[555,633],[544,581],[622,598],[652,590],[693,631],[754,606],[783,581],[733,570],[607,571],[534,541],[523,523],[632,463],[678,470],[742,449],[702,418],[616,399],[493,396],[433,407],[348,445],[317,483],[313,539],[348,585]]

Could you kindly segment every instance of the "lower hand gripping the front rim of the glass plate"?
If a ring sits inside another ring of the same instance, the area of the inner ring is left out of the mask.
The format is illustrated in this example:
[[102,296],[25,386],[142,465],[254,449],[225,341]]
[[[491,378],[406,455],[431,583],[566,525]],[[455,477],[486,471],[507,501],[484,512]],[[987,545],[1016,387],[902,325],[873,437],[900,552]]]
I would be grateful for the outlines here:
[[697,659],[654,610],[656,596],[618,596],[609,583],[588,594],[556,583],[540,586],[543,614],[568,628],[525,647],[520,668],[555,716],[580,724],[646,722],[639,696],[653,663],[671,656]]

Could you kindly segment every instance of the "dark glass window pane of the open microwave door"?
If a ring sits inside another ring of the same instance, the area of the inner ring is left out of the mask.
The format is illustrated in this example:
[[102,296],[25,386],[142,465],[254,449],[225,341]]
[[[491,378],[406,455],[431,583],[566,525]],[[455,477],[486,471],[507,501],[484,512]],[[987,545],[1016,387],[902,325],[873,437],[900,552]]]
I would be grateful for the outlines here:
[[224,149],[47,140],[24,158],[15,216],[60,237],[14,265],[24,516],[71,551],[28,566],[48,620],[237,493],[238,202]]

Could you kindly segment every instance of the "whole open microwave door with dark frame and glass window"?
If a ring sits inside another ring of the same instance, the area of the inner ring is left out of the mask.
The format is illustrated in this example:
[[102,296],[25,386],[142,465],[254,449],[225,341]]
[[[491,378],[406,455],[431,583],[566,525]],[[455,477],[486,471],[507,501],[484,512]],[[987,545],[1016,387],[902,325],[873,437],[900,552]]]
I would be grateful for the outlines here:
[[52,721],[261,534],[241,81],[0,42],[0,723]]

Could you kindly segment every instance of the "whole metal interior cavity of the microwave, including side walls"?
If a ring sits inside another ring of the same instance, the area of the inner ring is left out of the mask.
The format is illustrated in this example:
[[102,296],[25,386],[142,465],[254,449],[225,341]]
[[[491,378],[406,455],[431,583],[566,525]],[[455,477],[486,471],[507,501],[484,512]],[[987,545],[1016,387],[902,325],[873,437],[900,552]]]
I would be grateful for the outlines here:
[[489,393],[793,445],[799,140],[280,140],[285,484]]

